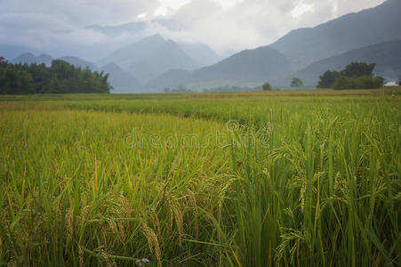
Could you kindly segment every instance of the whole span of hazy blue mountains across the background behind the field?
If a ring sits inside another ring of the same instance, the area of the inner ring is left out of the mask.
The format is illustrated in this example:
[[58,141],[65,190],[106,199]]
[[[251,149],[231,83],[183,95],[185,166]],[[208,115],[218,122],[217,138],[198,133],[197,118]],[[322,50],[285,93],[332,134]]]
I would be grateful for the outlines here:
[[[146,36],[145,22],[92,25],[88,28],[109,38],[130,33],[138,40],[113,50],[104,48],[107,53],[100,54],[94,62],[73,56],[60,59],[109,73],[116,93],[162,92],[166,87],[179,86],[192,90],[224,85],[257,86],[264,82],[288,88],[292,77],[299,77],[305,85],[313,87],[325,70],[342,69],[351,61],[376,62],[377,75],[395,80],[401,75],[400,12],[401,1],[388,0],[314,28],[293,30],[273,44],[226,59],[205,44],[176,42],[158,34]],[[175,30],[181,27],[171,20],[155,23]],[[17,53],[21,54],[17,57]],[[8,60],[13,56],[15,63],[50,65],[52,62],[50,55],[20,46],[0,45],[0,55],[8,56]]]

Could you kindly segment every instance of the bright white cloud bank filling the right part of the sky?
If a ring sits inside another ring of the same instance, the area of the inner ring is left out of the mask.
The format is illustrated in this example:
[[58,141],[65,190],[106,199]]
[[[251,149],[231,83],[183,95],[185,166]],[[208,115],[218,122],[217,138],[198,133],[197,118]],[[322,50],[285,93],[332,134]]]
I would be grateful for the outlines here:
[[[192,0],[171,14],[220,53],[274,42],[296,28],[313,27],[384,0]],[[180,36],[185,36],[180,33]]]

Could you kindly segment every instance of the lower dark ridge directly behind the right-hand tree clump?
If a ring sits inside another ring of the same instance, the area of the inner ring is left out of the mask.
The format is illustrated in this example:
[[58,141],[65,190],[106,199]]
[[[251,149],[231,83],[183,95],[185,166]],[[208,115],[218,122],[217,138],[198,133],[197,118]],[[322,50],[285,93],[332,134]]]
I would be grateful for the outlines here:
[[354,61],[376,63],[374,74],[387,80],[397,80],[401,75],[401,40],[373,44],[317,61],[294,74],[294,77],[301,78],[305,85],[316,86],[326,70],[340,71]]

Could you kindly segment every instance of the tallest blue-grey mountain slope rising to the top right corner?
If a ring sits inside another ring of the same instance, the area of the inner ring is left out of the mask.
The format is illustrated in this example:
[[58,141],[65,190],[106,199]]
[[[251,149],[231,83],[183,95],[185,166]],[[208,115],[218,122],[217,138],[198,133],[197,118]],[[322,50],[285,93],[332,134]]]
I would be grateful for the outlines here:
[[401,1],[388,0],[315,28],[300,28],[270,46],[301,68],[333,55],[371,44],[401,39]]

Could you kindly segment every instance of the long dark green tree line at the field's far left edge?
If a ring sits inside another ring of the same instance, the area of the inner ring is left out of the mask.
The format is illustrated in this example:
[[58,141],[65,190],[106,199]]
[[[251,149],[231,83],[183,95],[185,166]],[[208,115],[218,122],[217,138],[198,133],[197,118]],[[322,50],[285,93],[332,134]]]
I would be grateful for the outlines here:
[[81,69],[66,61],[12,64],[0,61],[0,94],[109,93],[108,74]]

